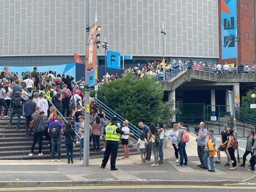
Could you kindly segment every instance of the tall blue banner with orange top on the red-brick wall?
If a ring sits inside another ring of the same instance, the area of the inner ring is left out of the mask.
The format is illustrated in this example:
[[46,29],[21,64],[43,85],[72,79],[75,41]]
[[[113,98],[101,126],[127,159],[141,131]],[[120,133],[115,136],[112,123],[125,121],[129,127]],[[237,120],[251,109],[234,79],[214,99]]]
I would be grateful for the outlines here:
[[221,0],[221,59],[237,57],[236,0]]

